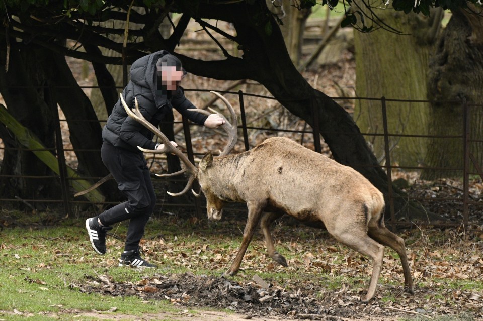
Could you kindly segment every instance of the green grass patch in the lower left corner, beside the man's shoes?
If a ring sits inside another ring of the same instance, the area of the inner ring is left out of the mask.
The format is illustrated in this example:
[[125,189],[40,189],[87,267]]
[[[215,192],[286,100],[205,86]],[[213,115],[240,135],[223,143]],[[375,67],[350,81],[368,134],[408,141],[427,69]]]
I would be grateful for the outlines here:
[[[59,312],[63,309],[108,311],[141,315],[172,308],[163,301],[139,304],[136,297],[104,297],[75,291],[86,277],[95,278],[105,268],[96,264],[79,229],[12,229],[2,238],[0,310]],[[6,236],[6,237],[5,237]],[[149,273],[147,271],[143,272]],[[134,269],[109,269],[114,279],[139,278]],[[138,306],[134,311],[133,306]]]

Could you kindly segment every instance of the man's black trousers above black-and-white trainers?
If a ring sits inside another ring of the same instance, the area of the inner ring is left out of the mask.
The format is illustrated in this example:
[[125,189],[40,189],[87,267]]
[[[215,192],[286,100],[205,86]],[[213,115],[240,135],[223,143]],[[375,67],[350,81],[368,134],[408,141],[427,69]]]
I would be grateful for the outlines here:
[[117,148],[109,143],[102,144],[101,158],[119,190],[127,196],[127,201],[102,212],[99,220],[104,226],[109,226],[129,219],[124,250],[135,250],[156,203],[146,160],[142,153]]

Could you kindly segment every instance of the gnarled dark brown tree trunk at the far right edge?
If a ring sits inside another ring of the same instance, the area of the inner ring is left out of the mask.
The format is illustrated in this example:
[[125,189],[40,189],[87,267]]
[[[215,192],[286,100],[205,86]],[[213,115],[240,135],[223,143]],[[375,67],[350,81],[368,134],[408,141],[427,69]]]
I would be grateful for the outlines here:
[[[473,7],[473,10],[475,8]],[[483,104],[483,18],[466,11],[454,11],[438,39],[430,62],[428,97],[431,105],[431,133],[463,135],[463,100]],[[470,108],[471,138],[483,137],[483,108]],[[471,143],[470,153],[483,164],[483,144]],[[432,139],[428,145],[426,166],[449,170],[424,170],[422,178],[461,177],[463,139]],[[474,167],[471,169],[474,172]]]

